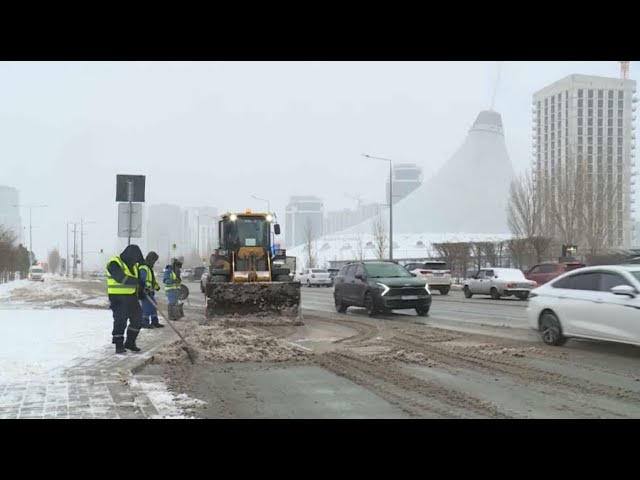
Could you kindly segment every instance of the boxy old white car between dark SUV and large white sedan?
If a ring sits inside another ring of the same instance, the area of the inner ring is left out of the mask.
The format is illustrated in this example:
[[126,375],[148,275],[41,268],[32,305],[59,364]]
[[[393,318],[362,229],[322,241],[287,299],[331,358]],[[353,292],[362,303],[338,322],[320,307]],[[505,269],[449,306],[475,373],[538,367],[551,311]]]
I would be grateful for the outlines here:
[[536,282],[527,280],[517,268],[481,268],[473,277],[467,278],[463,291],[466,298],[491,295],[491,298],[498,300],[515,295],[520,300],[526,300],[535,287]]

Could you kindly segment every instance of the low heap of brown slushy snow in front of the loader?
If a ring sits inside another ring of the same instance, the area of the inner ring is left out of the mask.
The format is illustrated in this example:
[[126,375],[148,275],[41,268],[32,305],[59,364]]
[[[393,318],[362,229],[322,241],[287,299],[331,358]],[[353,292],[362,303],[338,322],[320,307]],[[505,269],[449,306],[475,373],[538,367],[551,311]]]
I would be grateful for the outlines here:
[[[306,356],[301,348],[242,328],[193,325],[185,339],[197,362],[286,362]],[[181,340],[154,355],[156,363],[173,365],[185,361],[188,356]]]

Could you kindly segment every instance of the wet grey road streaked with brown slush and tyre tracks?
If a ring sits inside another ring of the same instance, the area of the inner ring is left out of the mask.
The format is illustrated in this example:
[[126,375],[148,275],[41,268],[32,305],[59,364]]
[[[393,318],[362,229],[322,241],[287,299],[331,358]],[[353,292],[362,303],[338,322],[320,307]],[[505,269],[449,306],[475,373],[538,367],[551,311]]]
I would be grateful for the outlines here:
[[[197,284],[183,331],[203,323]],[[246,327],[304,349],[296,362],[152,365],[206,418],[639,418],[640,349],[526,329],[526,302],[434,294],[429,317],[338,314],[303,287],[303,326]],[[211,327],[207,327],[211,328]],[[220,337],[222,338],[222,337]],[[219,340],[216,340],[218,342]],[[253,347],[248,347],[253,348]]]

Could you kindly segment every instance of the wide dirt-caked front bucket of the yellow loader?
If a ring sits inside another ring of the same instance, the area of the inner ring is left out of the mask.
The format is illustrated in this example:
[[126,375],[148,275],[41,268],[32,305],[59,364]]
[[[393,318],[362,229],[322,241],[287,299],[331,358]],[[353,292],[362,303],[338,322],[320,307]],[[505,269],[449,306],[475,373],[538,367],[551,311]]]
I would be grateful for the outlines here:
[[[300,282],[210,283],[207,318],[246,317],[258,324],[302,324]],[[269,322],[271,319],[273,322]]]

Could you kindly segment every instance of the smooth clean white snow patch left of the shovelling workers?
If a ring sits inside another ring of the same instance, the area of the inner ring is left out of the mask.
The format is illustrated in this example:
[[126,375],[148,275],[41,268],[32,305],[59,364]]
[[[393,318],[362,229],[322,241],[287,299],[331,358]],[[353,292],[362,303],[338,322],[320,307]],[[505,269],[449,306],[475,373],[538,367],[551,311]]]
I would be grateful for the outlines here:
[[0,383],[59,374],[74,358],[104,355],[112,325],[110,310],[3,309],[0,304]]

